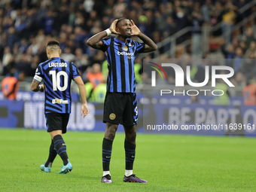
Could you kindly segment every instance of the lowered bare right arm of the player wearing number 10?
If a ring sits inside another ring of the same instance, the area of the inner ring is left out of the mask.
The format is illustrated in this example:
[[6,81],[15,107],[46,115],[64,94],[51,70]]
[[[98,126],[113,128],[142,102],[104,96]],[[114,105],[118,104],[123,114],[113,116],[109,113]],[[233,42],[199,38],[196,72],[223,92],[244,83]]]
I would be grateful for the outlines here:
[[84,82],[80,76],[74,78],[75,83],[78,84],[79,93],[82,100],[82,106],[81,106],[81,115],[84,114],[84,117],[89,113],[89,109],[87,106],[87,92],[84,87]]

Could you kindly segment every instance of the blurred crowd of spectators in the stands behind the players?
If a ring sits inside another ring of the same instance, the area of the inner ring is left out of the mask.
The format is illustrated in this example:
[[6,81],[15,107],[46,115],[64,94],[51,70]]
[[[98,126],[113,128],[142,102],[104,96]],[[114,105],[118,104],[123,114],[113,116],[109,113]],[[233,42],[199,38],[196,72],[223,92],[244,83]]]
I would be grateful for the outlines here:
[[[86,45],[90,36],[107,29],[116,18],[126,17],[135,21],[139,29],[154,42],[163,41],[186,26],[192,26],[189,35],[183,35],[178,43],[192,38],[192,46],[183,56],[198,54],[207,58],[198,48],[200,26],[215,26],[221,29],[212,35],[222,35],[223,42],[213,44],[211,52],[218,51],[222,58],[233,59],[236,74],[256,72],[256,66],[242,62],[245,58],[256,59],[254,20],[231,34],[232,27],[256,11],[239,9],[250,0],[5,0],[0,2],[0,75],[14,73],[19,81],[32,77],[40,62],[47,57],[45,44],[51,38],[59,41],[62,58],[75,62],[84,82],[93,89],[106,80],[107,63],[102,51]],[[196,41],[193,41],[196,40]],[[211,46],[211,45],[210,45]],[[163,50],[160,50],[160,53]],[[151,55],[148,56],[151,58]],[[142,60],[137,59],[136,73],[142,74]],[[104,64],[105,63],[105,64]],[[201,72],[202,64],[197,71]],[[101,69],[102,68],[102,69]],[[203,70],[203,69],[202,69]],[[202,77],[195,76],[200,81]],[[137,83],[142,81],[136,78]],[[238,79],[239,81],[239,79]]]

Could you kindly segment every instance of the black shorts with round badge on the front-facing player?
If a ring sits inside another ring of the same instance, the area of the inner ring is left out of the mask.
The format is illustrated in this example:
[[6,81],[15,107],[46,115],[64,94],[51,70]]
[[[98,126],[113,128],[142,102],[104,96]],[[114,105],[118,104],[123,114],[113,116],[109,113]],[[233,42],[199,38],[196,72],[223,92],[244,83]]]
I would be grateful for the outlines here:
[[131,126],[138,123],[136,93],[106,93],[103,122]]

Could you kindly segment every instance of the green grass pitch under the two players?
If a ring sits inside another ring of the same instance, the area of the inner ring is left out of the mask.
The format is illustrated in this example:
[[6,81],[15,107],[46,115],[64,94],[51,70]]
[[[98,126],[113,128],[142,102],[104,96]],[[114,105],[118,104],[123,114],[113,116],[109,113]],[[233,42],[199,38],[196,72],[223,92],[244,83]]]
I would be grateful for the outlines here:
[[[120,127],[121,128],[121,127]],[[220,136],[137,136],[134,173],[148,184],[124,183],[123,133],[111,157],[113,184],[101,183],[104,133],[69,132],[66,141],[73,171],[52,172],[47,160],[50,136],[39,130],[0,129],[0,191],[254,191],[255,138]]]

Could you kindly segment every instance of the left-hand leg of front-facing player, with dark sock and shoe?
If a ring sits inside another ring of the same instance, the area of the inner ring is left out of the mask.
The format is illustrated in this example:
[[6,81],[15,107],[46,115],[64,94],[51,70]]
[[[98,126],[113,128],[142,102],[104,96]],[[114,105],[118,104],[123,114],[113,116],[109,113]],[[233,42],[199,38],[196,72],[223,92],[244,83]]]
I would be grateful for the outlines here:
[[112,183],[109,172],[109,163],[111,160],[112,144],[115,133],[117,132],[117,124],[106,123],[105,136],[102,142],[102,166],[103,166],[103,183]]

